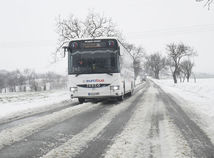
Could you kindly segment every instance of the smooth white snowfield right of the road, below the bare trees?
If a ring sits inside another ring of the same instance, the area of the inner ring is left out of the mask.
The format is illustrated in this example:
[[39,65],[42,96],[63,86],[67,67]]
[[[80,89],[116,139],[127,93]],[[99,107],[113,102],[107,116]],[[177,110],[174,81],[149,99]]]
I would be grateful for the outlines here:
[[155,80],[165,92],[173,95],[191,118],[214,143],[214,79],[198,79],[196,83],[174,84],[172,79]]

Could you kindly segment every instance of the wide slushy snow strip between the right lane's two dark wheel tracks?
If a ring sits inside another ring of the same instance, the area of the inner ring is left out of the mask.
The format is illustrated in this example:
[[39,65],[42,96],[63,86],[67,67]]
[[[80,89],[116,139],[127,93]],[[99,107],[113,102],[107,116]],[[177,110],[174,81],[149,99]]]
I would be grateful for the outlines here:
[[176,129],[166,116],[159,91],[148,89],[124,130],[109,145],[105,158],[163,157],[183,158],[188,151]]

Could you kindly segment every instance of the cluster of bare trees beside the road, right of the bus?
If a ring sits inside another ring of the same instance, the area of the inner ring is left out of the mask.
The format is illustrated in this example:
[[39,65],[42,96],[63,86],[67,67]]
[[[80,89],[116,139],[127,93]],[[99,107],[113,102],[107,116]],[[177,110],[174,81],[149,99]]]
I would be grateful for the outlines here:
[[171,43],[166,46],[166,53],[166,57],[160,53],[154,53],[146,57],[145,67],[147,73],[159,79],[160,72],[170,70],[174,83],[178,82],[178,78],[180,78],[180,81],[187,79],[187,82],[189,82],[194,66],[190,59],[197,55],[194,49],[183,43]]

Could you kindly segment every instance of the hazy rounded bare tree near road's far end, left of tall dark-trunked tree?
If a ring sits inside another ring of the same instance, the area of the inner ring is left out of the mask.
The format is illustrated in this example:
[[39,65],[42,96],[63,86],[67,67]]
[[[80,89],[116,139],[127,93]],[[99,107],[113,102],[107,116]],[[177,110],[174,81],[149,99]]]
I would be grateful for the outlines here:
[[151,54],[146,58],[147,72],[152,74],[156,79],[159,79],[160,71],[166,69],[167,59],[159,53]]

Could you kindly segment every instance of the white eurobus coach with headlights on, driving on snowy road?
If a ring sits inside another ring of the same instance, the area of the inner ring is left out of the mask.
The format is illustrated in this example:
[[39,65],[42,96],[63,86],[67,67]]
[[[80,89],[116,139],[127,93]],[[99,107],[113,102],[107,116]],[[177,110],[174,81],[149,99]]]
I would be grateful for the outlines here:
[[68,87],[72,98],[117,98],[134,90],[133,59],[116,38],[70,41]]

